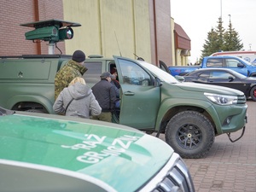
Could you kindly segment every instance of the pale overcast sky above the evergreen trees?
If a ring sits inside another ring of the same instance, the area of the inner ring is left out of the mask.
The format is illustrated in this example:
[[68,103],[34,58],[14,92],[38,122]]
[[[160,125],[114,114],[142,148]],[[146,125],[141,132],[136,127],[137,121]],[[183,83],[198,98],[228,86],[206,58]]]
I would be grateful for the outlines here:
[[170,1],[174,22],[183,27],[191,40],[189,62],[195,63],[200,59],[207,33],[216,28],[219,17],[222,17],[224,29],[228,28],[231,20],[243,49],[256,50],[256,0]]

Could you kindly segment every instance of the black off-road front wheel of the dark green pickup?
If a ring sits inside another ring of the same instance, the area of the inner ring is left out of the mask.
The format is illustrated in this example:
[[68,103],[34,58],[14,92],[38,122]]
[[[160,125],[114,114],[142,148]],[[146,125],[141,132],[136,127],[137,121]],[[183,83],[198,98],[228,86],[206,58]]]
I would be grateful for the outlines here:
[[177,113],[166,126],[166,143],[186,159],[206,156],[214,139],[212,123],[195,111]]

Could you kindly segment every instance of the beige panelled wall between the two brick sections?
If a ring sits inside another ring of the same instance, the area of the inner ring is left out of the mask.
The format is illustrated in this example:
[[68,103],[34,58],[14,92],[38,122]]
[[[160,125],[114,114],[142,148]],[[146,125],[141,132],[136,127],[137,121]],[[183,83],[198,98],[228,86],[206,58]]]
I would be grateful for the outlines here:
[[122,56],[136,58],[135,53],[151,62],[148,0],[63,0],[63,15],[82,25],[66,40],[67,54],[81,49],[85,55],[112,57],[120,49]]

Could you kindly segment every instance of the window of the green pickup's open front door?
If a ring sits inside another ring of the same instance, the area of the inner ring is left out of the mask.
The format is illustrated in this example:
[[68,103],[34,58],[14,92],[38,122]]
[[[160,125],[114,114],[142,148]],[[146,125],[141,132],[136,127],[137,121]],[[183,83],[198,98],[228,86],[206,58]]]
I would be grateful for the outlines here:
[[152,80],[148,73],[136,63],[119,59],[119,66],[121,68],[124,84],[152,85]]

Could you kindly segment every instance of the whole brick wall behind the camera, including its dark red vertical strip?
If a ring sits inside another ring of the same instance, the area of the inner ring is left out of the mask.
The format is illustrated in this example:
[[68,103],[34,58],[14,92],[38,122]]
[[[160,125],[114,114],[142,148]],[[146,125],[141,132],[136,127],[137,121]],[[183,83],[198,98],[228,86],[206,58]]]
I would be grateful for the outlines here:
[[[1,0],[0,3],[0,55],[48,54],[47,43],[32,43],[32,40],[25,39],[25,32],[34,28],[20,24],[38,20],[63,20],[62,0]],[[58,46],[65,53],[65,43],[59,43]]]

